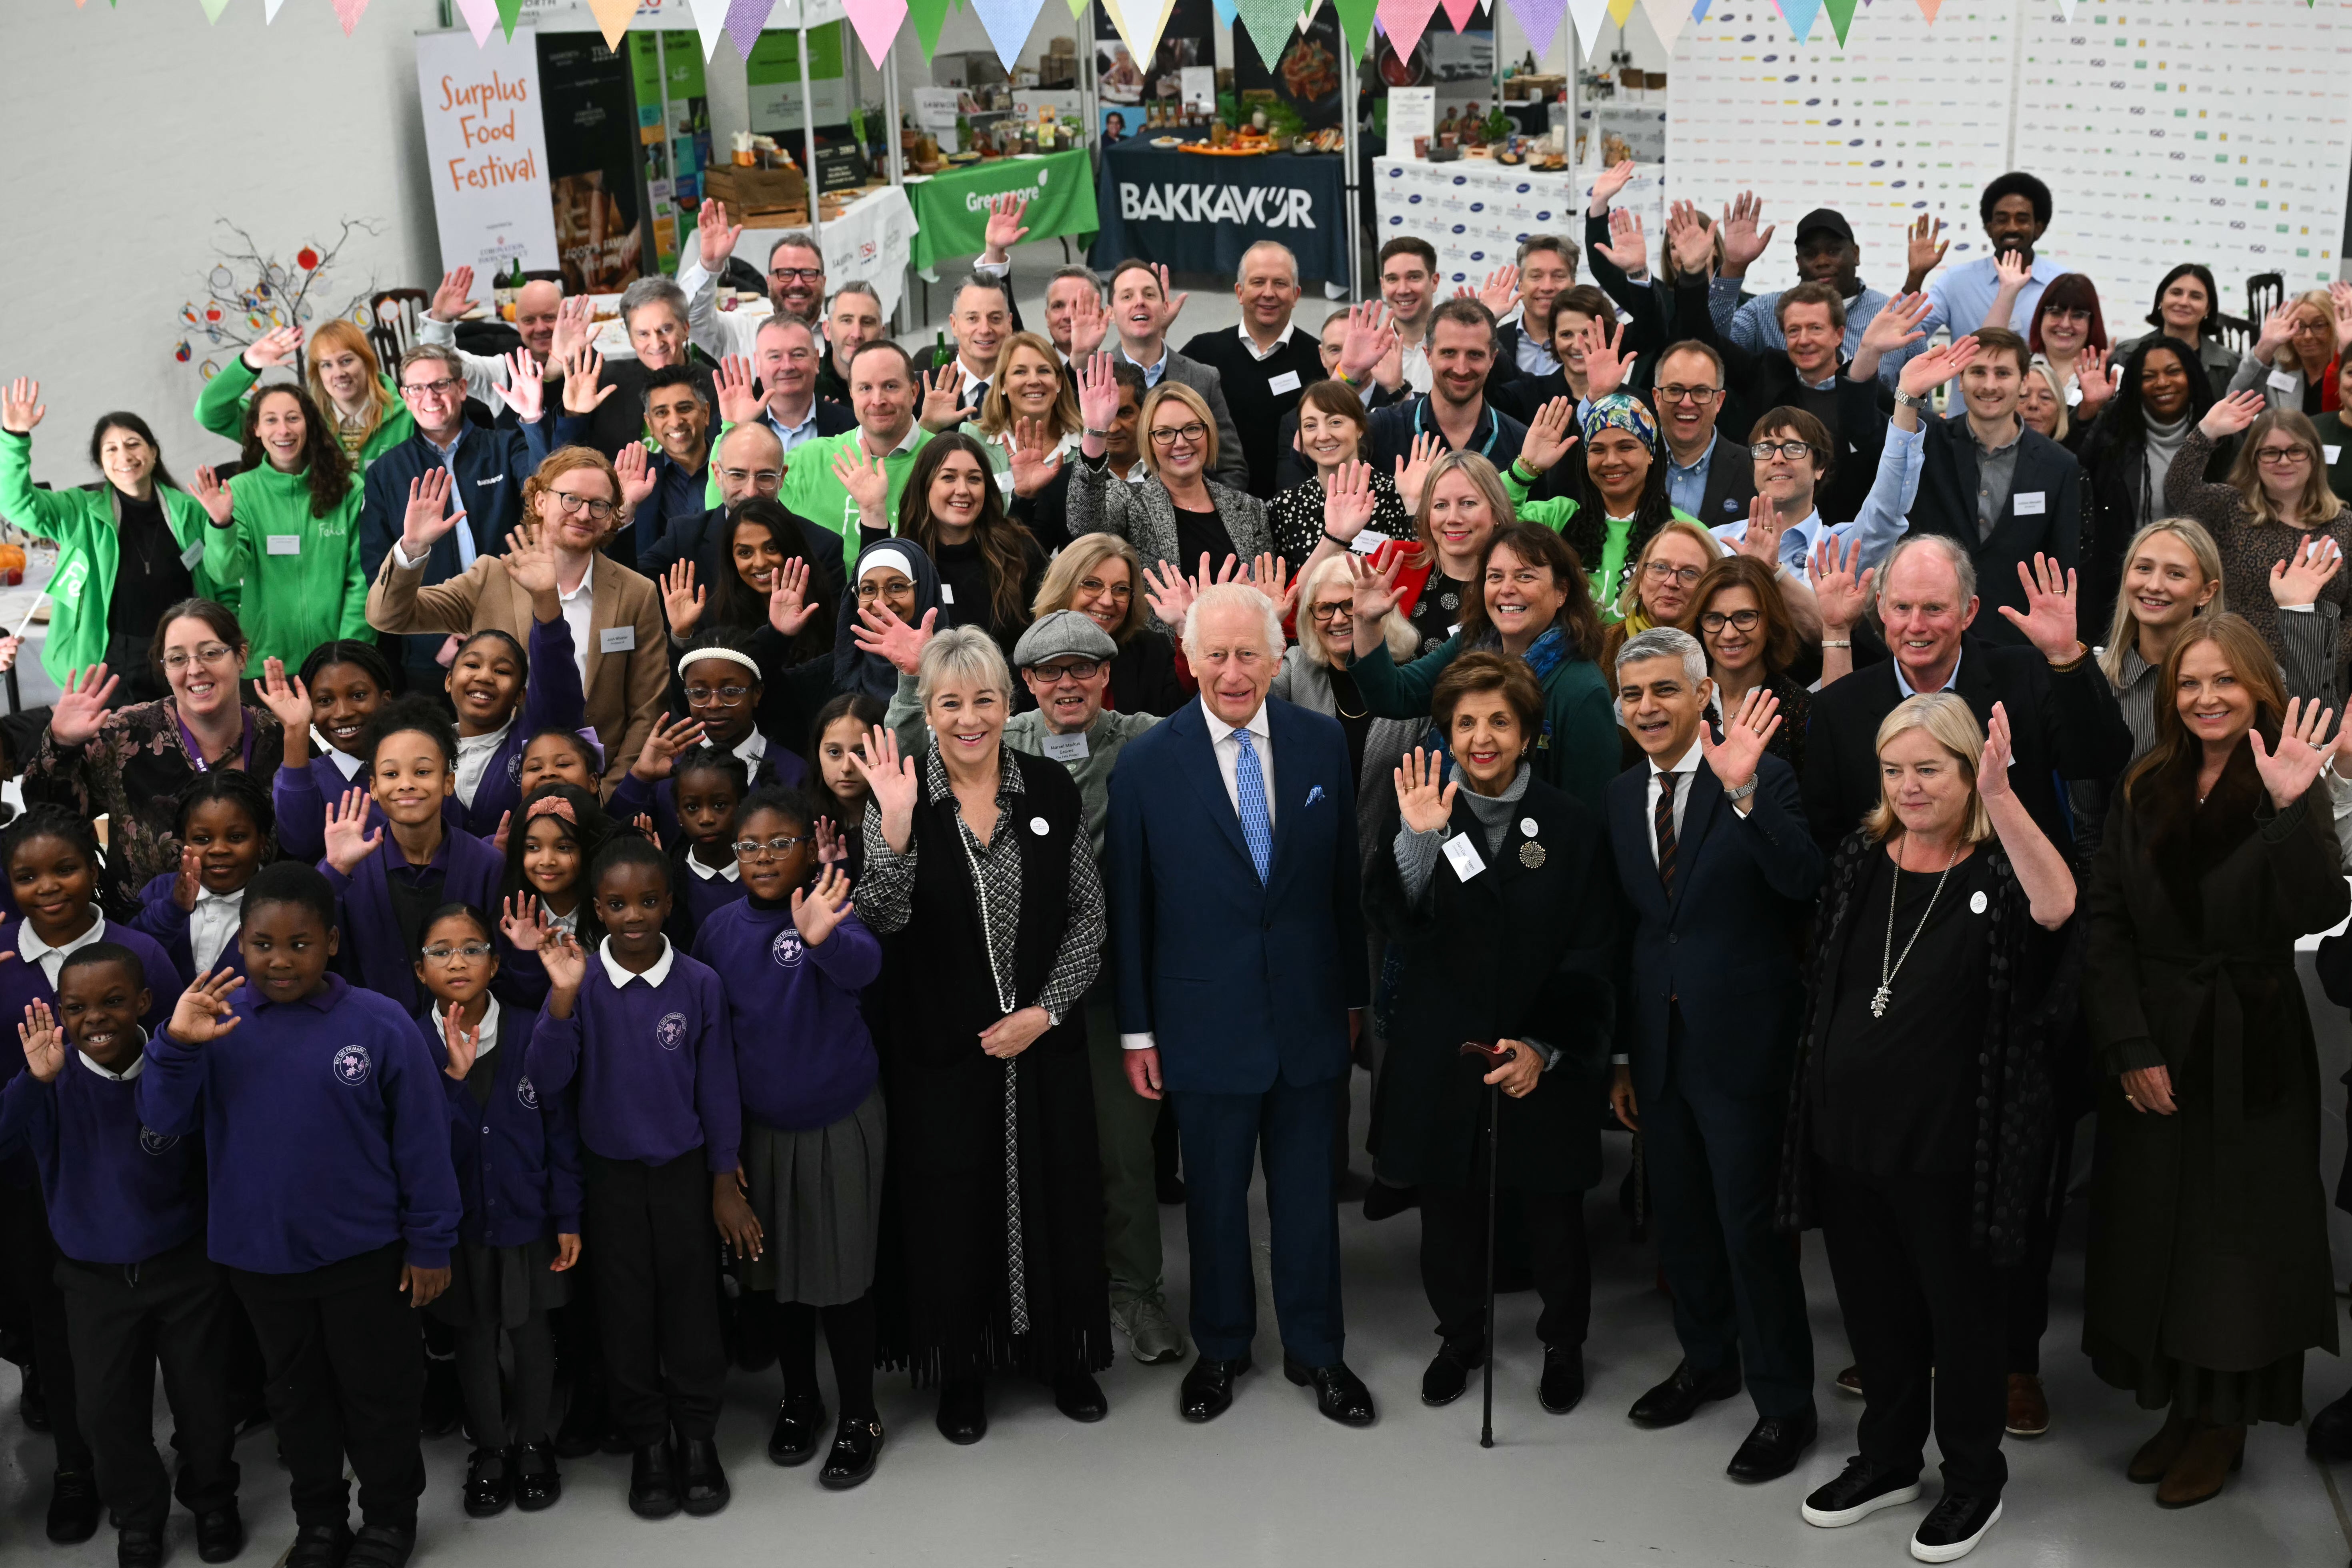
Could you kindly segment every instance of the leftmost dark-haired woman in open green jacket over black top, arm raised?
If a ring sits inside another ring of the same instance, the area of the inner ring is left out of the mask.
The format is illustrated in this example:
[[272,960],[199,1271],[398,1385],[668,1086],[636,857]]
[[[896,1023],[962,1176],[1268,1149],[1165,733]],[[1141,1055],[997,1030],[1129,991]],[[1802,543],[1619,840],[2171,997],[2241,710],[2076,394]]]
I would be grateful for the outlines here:
[[136,414],[101,414],[89,433],[106,484],[33,489],[33,425],[47,411],[26,376],[0,395],[0,517],[56,541],[40,663],[64,689],[73,670],[103,661],[122,675],[122,701],[155,701],[167,696],[148,663],[155,616],[195,597],[235,607],[238,585],[205,567],[205,508],[172,480]]

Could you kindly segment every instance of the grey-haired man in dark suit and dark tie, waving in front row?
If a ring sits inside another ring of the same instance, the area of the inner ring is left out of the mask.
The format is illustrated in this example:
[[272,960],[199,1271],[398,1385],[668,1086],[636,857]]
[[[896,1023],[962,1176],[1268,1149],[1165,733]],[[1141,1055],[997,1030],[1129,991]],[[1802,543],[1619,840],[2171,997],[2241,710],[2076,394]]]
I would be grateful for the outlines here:
[[1816,1436],[1813,1335],[1788,1237],[1773,1234],[1788,1077],[1804,1023],[1797,933],[1820,891],[1797,773],[1764,752],[1769,691],[1705,726],[1715,682],[1698,639],[1658,628],[1618,654],[1618,712],[1646,762],[1609,783],[1609,842],[1632,919],[1618,1013],[1618,1119],[1642,1133],[1658,1262],[1682,1366],[1632,1406],[1642,1427],[1748,1394],[1757,1425],[1733,1481],[1771,1481]]

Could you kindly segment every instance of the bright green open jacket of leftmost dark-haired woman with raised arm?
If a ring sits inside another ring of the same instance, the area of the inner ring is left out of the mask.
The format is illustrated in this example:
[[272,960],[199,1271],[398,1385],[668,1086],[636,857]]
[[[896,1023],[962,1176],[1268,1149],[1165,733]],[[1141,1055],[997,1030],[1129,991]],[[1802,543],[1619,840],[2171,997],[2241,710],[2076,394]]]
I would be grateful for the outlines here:
[[[205,508],[195,496],[158,487],[165,522],[181,550],[205,545]],[[40,665],[59,686],[73,670],[106,658],[106,607],[115,599],[122,536],[115,531],[115,487],[33,489],[33,437],[0,430],[0,517],[26,534],[56,541],[49,578],[49,639]],[[238,583],[219,581],[205,562],[191,567],[195,590],[238,607]]]

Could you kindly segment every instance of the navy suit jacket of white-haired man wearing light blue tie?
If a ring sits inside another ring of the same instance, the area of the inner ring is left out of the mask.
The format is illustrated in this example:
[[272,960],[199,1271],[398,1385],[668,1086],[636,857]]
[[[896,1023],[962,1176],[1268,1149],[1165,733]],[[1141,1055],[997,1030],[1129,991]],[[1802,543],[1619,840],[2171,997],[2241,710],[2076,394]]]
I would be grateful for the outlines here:
[[1162,1081],[1256,1095],[1348,1072],[1348,1009],[1371,999],[1355,762],[1338,719],[1268,698],[1275,856],[1265,882],[1200,703],[1127,743],[1110,773],[1120,1032],[1152,1032]]

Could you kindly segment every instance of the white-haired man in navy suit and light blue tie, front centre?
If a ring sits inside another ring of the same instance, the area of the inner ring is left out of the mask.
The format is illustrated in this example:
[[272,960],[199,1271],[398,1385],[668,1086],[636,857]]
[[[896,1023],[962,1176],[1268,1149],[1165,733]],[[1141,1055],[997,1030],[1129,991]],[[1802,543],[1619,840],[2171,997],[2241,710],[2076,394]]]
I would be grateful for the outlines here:
[[1185,1420],[1214,1420],[1258,1331],[1249,1173],[1263,1147],[1282,1371],[1352,1427],[1371,1392],[1341,1359],[1331,1117],[1371,992],[1355,764],[1338,722],[1265,698],[1282,621],[1256,588],[1185,616],[1200,703],[1127,743],[1110,776],[1112,959],[1136,1093],[1176,1098],[1192,1338]]

